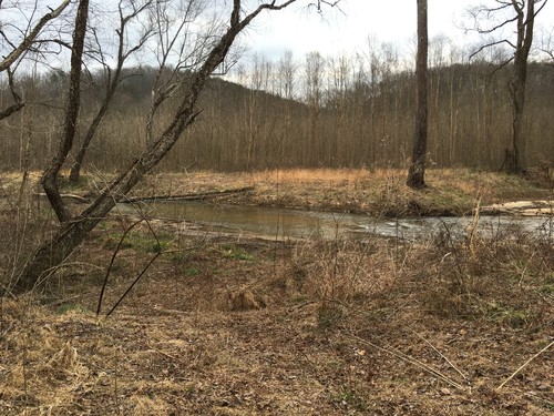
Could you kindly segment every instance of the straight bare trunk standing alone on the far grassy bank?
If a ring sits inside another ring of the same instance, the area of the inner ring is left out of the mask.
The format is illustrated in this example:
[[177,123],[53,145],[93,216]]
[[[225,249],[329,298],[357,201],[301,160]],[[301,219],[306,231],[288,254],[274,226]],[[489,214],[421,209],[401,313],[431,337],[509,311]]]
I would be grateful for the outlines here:
[[412,161],[408,171],[407,184],[413,189],[425,186],[425,153],[428,132],[428,103],[427,103],[427,0],[418,1],[418,55],[416,62],[417,99],[416,99],[416,131],[413,138]]

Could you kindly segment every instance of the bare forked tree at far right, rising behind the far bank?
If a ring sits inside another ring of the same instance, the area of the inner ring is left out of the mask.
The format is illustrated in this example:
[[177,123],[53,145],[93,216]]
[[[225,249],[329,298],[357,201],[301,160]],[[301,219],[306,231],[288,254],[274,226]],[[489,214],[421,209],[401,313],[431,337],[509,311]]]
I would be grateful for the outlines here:
[[[523,135],[523,115],[525,110],[525,84],[527,79],[527,60],[533,44],[533,28],[536,14],[544,8],[547,0],[496,0],[495,8],[479,7],[472,10],[474,26],[478,32],[491,34],[501,29],[515,23],[515,41],[511,39],[500,39],[491,41],[472,54],[475,55],[484,49],[497,44],[509,44],[513,48],[514,53],[502,65],[510,63],[512,60],[513,77],[510,82],[510,95],[512,99],[512,140],[510,146],[505,150],[503,169],[510,173],[520,173],[526,162],[526,140]],[[511,12],[512,14],[505,19],[496,21],[492,27],[481,28],[482,20],[488,21],[495,14]]]

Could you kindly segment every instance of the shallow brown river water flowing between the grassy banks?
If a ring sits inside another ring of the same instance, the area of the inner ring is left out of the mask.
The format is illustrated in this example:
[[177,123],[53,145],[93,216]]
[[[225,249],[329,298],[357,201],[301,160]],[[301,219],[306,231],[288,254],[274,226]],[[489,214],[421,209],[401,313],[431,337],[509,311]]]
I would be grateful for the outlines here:
[[[212,202],[154,201],[119,204],[124,214],[141,214],[151,219],[184,221],[202,230],[243,234],[255,237],[287,240],[337,236],[365,239],[371,235],[401,240],[418,240],[441,230],[452,236],[463,235],[472,227],[470,217],[371,217],[365,214],[330,213],[276,207],[227,205]],[[478,230],[494,235],[499,231],[519,227],[525,233],[554,236],[554,221],[544,216],[481,216]]]

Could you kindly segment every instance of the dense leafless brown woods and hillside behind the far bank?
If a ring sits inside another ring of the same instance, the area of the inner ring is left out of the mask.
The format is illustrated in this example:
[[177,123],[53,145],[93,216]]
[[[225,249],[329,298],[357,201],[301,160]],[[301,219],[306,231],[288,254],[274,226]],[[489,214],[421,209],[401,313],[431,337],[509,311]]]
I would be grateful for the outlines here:
[[[411,71],[393,71],[387,65],[358,68],[319,54],[307,57],[295,70],[293,74],[258,64],[240,74],[242,83],[212,78],[202,94],[201,115],[161,169],[406,165],[414,113]],[[486,62],[430,70],[431,168],[502,166],[511,136],[510,71]],[[532,166],[553,162],[554,67],[532,63],[529,72],[524,134],[526,165]],[[152,68],[125,70],[126,78],[93,140],[85,166],[115,169],[130,148],[146,145],[144,124],[155,73]],[[2,169],[44,165],[61,132],[66,80],[60,70],[24,79],[30,104],[0,124]],[[104,84],[100,71],[85,77],[81,136],[98,111]],[[1,94],[9,102],[7,85]],[[174,98],[178,94],[175,91]],[[154,129],[171,116],[173,101],[163,104],[165,111]]]

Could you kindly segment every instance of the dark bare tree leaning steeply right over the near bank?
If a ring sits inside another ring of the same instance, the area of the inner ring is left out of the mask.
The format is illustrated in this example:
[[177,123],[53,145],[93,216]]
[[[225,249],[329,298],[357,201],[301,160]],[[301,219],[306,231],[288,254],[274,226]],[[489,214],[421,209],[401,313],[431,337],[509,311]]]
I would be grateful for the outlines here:
[[[85,1],[83,0],[82,2]],[[245,13],[242,1],[234,0],[227,28],[219,37],[208,39],[211,42],[207,53],[204,55],[198,68],[192,72],[189,82],[176,105],[174,115],[165,125],[163,132],[142,154],[137,155],[131,164],[124,168],[83,212],[72,216],[66,206],[63,205],[57,186],[51,186],[50,191],[58,204],[55,210],[60,219],[60,225],[54,235],[43,242],[25,264],[17,282],[17,290],[31,290],[55,271],[83,242],[96,224],[105,217],[112,207],[173,148],[183,131],[198,116],[201,112],[196,105],[198,95],[209,74],[224,61],[237,35],[263,11],[280,10],[295,1],[286,0],[278,2],[273,0],[260,3],[254,11]],[[59,152],[54,156],[52,166],[45,174],[45,182],[52,181],[52,175],[62,160],[62,153],[66,155],[66,145],[68,143],[63,142],[63,152]],[[49,197],[51,196],[49,195]]]

